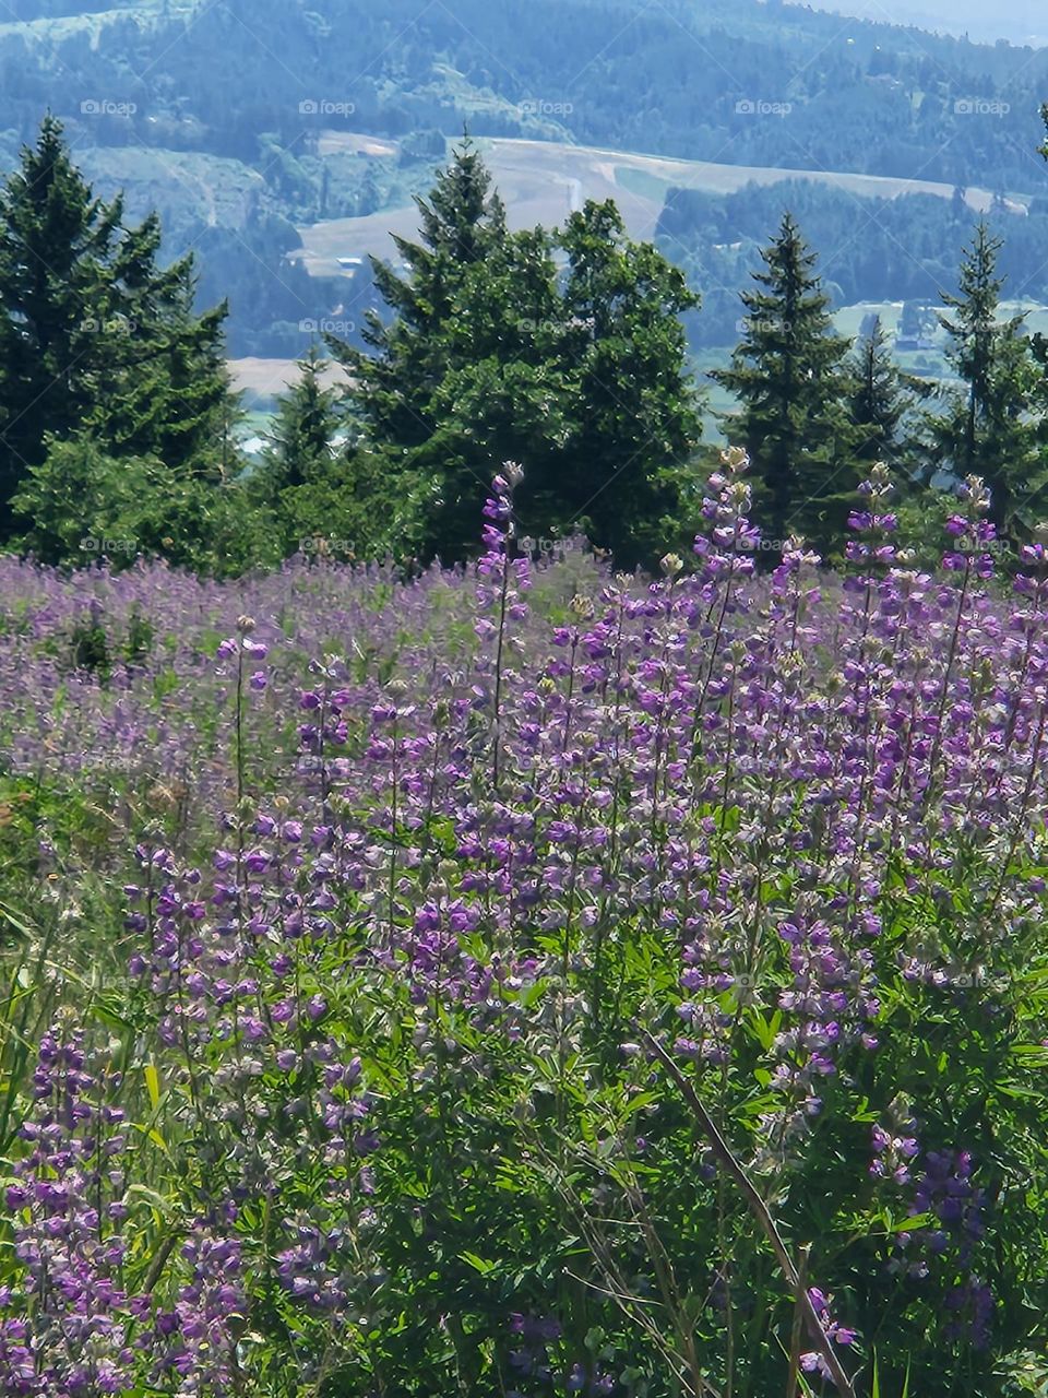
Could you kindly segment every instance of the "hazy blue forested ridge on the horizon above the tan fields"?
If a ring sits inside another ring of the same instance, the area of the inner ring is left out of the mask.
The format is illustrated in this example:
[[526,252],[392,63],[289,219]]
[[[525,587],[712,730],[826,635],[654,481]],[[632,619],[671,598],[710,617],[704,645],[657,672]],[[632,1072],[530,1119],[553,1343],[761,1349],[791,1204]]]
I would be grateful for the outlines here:
[[[21,0],[20,15],[60,8]],[[330,124],[381,136],[468,119],[489,136],[1026,189],[1047,78],[1048,53],[757,0],[226,0],[0,36],[0,131],[28,138],[59,101],[88,144],[264,171],[264,143],[300,151],[316,122],[299,103],[327,98],[352,108]],[[134,110],[84,120],[85,98]],[[535,99],[560,110],[523,108]],[[762,117],[764,102],[788,112]]]

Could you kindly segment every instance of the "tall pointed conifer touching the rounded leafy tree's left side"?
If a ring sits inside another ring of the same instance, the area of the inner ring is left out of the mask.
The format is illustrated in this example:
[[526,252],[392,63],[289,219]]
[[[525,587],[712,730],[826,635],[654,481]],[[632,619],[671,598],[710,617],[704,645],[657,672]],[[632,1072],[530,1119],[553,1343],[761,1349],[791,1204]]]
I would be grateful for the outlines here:
[[[534,358],[528,330],[542,316],[521,309],[527,282],[516,254],[524,235],[509,233],[468,137],[416,206],[419,240],[394,239],[407,277],[372,259],[391,319],[367,312],[365,350],[328,343],[354,384],[372,446],[402,489],[426,502],[425,552],[451,562],[472,549],[486,482],[520,445],[520,380]],[[539,280],[552,281],[552,260],[541,246],[532,254],[544,266]],[[499,341],[517,355],[511,387],[500,373]]]

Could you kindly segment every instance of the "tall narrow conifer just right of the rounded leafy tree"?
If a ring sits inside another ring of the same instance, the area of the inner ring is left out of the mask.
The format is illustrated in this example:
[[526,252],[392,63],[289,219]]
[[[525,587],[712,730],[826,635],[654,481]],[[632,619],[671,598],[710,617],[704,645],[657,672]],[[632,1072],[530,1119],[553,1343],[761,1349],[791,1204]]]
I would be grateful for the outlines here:
[[755,517],[766,537],[781,542],[799,533],[826,552],[841,537],[858,484],[848,341],[833,330],[816,257],[789,214],[762,257],[759,289],[742,294],[742,341],[731,366],[711,377],[739,401],[725,431],[755,464]]

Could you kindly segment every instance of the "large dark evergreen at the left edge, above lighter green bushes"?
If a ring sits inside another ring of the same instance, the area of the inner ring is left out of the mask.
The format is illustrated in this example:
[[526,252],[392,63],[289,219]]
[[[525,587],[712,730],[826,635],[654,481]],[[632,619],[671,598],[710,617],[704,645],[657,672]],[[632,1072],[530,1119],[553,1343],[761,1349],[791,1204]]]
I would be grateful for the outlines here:
[[[45,117],[0,192],[0,502],[84,431],[108,457],[218,477],[229,415],[225,306],[193,310],[193,263],[158,267],[161,226],[95,199]],[[10,538],[15,520],[0,520]]]

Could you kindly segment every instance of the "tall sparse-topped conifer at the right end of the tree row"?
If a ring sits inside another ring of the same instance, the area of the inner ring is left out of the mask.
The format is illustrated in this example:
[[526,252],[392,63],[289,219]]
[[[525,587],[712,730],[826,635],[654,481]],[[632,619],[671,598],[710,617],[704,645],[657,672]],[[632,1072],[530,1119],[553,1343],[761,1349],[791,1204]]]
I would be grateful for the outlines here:
[[963,387],[943,390],[942,410],[928,414],[926,428],[933,463],[959,478],[981,475],[991,491],[992,519],[1009,533],[1037,473],[1027,407],[1035,370],[1023,334],[1026,317],[1000,319],[999,250],[1000,239],[981,222],[961,259],[957,295],[942,294],[953,312],[939,316],[949,337],[947,359]]

